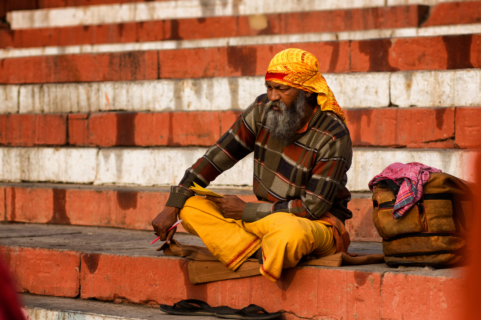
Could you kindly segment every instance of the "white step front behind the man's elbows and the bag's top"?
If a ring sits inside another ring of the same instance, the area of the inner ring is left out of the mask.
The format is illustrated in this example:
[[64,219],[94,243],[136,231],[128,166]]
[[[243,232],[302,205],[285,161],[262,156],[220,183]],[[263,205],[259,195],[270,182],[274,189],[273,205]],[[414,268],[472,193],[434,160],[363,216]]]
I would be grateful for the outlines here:
[[[207,148],[0,148],[0,181],[95,185],[177,185]],[[479,151],[466,149],[354,148],[347,188],[366,191],[371,178],[394,162],[420,162],[474,181]],[[253,154],[225,171],[211,188],[252,189]]]

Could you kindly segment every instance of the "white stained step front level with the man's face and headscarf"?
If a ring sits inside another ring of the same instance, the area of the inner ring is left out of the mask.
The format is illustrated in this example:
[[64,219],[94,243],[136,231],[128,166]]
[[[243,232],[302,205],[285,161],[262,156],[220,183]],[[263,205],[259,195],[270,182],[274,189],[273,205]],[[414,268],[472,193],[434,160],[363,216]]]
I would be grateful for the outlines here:
[[[324,76],[343,108],[481,106],[480,69]],[[263,93],[264,76],[8,84],[0,113],[243,110]]]

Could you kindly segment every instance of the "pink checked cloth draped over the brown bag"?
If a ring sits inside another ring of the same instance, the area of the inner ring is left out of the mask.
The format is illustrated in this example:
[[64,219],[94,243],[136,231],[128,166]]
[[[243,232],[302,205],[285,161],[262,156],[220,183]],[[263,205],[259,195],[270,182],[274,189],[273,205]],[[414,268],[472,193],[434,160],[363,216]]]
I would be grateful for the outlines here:
[[391,179],[401,185],[397,193],[392,216],[399,219],[422,197],[422,186],[428,182],[429,174],[442,172],[419,162],[400,162],[387,166],[379,175],[369,181],[369,190],[374,191],[380,180]]

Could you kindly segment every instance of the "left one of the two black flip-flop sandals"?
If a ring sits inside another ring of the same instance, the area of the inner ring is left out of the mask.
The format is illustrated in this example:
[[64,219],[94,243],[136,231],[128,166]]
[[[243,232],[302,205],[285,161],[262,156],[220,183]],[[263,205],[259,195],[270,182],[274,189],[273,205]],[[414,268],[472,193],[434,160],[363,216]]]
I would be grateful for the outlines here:
[[[194,306],[194,305],[197,306]],[[236,309],[229,307],[211,307],[206,302],[197,299],[180,300],[174,303],[173,306],[160,305],[161,311],[170,314],[177,314],[180,316],[215,316],[215,311],[219,312],[234,312]]]

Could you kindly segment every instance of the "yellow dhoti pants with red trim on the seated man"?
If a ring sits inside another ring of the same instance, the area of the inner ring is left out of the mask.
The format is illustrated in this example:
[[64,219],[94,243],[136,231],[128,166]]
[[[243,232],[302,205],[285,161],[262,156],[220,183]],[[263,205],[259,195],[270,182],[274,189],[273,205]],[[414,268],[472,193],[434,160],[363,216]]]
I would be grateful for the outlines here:
[[291,213],[272,213],[246,223],[224,218],[213,201],[194,196],[180,210],[179,219],[187,232],[199,236],[232,271],[262,246],[260,271],[274,282],[283,268],[295,266],[307,254],[320,258],[336,253],[332,225]]

